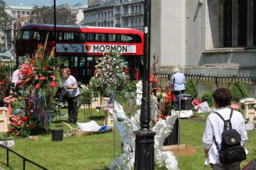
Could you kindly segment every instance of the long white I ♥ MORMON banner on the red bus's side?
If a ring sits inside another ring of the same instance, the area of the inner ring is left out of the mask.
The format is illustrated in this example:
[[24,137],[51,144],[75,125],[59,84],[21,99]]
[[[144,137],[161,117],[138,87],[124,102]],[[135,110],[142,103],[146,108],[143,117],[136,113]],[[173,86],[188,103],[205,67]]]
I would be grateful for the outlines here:
[[136,53],[136,45],[86,45],[57,44],[56,52],[61,53],[103,53],[103,52]]

